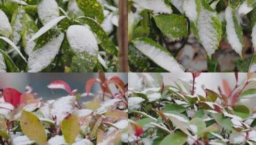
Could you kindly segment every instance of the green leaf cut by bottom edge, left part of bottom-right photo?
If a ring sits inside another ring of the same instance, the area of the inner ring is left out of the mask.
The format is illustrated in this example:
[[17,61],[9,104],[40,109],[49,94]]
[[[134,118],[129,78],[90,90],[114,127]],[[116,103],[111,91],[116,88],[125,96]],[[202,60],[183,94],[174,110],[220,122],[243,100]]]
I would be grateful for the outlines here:
[[167,135],[160,143],[160,145],[183,145],[187,142],[188,136],[182,132],[175,132]]

